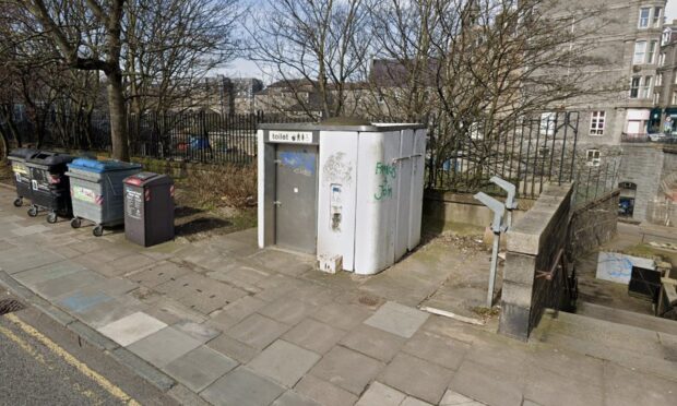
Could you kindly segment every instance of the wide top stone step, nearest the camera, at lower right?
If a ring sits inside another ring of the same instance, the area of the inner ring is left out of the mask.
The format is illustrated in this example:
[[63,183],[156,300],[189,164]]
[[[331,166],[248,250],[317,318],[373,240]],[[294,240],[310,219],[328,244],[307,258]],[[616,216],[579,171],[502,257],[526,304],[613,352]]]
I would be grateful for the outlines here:
[[548,310],[530,339],[677,381],[674,334]]

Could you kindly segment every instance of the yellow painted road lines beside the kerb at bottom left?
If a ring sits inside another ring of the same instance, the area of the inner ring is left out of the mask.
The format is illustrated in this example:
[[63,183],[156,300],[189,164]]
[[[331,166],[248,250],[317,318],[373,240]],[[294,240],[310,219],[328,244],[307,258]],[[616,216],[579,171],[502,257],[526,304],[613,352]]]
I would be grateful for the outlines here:
[[[50,351],[52,351],[55,355],[57,355],[58,357],[63,359],[66,362],[71,365],[80,373],[82,373],[83,375],[85,375],[85,377],[90,378],[91,380],[93,380],[94,382],[96,382],[102,389],[104,389],[106,392],[108,392],[111,396],[120,399],[121,402],[127,403],[130,406],[140,406],[140,404],[134,398],[132,398],[130,395],[124,393],[124,391],[122,391],[120,387],[118,387],[115,384],[112,384],[110,381],[108,381],[106,378],[104,378],[103,375],[100,375],[96,371],[93,371],[90,367],[87,367],[85,363],[83,363],[80,360],[78,360],[75,357],[73,357],[66,349],[61,348],[58,344],[56,344],[51,339],[47,338],[40,332],[35,330],[32,325],[28,325],[28,324],[24,323],[21,319],[19,319],[16,315],[11,314],[11,313],[10,314],[5,314],[4,317],[9,321],[11,321],[12,323],[16,324],[21,330],[24,331],[24,333],[28,334],[33,338],[35,338],[38,342],[43,343],[43,345],[45,345],[47,348],[49,348]],[[23,349],[26,349],[26,347],[24,347],[24,346],[27,346],[27,348],[29,349],[29,350],[27,350],[27,353],[29,353],[29,354],[34,354],[35,353],[35,350],[33,348],[31,348],[26,343],[24,343],[14,333],[8,331],[7,329],[3,329],[2,326],[0,326],[0,332],[2,334],[7,335],[9,338],[11,338],[16,344],[19,344]],[[23,343],[23,344],[21,344],[21,343]]]

